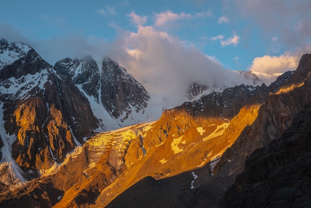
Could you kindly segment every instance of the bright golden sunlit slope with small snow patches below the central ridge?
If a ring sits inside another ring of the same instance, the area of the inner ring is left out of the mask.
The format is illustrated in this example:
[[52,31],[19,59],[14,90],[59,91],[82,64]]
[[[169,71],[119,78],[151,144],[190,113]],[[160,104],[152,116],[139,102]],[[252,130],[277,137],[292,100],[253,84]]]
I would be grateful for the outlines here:
[[[138,156],[132,158],[131,166],[100,194],[96,205],[99,207],[107,205],[118,194],[144,177],[152,176],[156,179],[171,177],[219,159],[244,127],[251,125],[256,119],[259,107],[260,104],[245,105],[231,120],[225,120],[221,116],[218,119],[198,118],[205,123],[203,126],[193,118],[181,119],[191,117],[187,110],[186,112],[176,112],[178,109],[168,110],[159,121],[146,127],[147,131],[141,132],[146,155],[143,157],[138,153]],[[162,120],[165,122],[160,123]],[[217,120],[218,122],[215,122]],[[140,137],[132,140],[129,147],[132,148],[131,154],[134,148],[136,152],[141,152],[142,147],[138,144]],[[134,162],[133,159],[137,161]]]

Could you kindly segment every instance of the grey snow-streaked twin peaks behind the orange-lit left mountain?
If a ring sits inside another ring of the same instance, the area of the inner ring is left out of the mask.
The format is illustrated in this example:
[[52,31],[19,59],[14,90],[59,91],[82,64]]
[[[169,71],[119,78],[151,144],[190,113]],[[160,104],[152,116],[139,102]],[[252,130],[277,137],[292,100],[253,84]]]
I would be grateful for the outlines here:
[[[144,114],[148,106],[150,96],[145,88],[125,68],[108,57],[104,58],[100,67],[88,56],[81,60],[60,60],[54,68],[73,80],[89,97],[93,109],[98,108],[98,105],[104,107],[119,123],[130,120],[131,114]],[[100,112],[94,114],[105,126],[107,115]]]

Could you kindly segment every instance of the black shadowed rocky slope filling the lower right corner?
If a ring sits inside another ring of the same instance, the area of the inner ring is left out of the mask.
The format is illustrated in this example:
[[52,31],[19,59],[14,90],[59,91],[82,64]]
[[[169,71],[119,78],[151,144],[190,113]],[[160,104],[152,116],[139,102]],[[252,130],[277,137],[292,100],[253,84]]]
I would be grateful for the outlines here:
[[254,151],[221,207],[309,207],[311,205],[311,107],[266,147]]

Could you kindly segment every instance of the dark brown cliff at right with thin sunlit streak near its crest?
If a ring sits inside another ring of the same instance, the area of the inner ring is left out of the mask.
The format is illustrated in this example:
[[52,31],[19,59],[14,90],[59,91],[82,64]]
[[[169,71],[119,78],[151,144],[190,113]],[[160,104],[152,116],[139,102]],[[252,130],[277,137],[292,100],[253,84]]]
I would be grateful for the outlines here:
[[300,61],[297,70],[284,74],[273,83],[267,101],[261,106],[258,117],[252,125],[245,128],[232,148],[223,155],[215,171],[227,161],[234,161],[232,172],[239,173],[243,170],[246,157],[255,149],[263,147],[281,134],[293,122],[299,111],[306,104],[310,104],[311,89],[311,55],[305,54]]

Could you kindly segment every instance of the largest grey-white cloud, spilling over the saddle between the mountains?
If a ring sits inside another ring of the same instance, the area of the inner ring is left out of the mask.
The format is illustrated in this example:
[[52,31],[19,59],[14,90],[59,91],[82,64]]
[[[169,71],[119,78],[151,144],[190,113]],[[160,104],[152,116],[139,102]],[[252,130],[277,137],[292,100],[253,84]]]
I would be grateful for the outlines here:
[[223,68],[216,57],[188,47],[182,40],[152,26],[124,32],[108,55],[125,66],[151,94],[161,95],[174,107],[186,101],[192,83],[234,86],[245,82],[238,73]]

